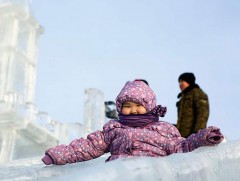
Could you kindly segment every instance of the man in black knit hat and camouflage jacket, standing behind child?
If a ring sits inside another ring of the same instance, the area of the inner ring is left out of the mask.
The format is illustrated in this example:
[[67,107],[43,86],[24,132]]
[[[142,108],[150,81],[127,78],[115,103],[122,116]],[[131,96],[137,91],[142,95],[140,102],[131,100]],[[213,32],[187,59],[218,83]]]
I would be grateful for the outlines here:
[[178,82],[181,92],[177,102],[177,128],[182,137],[188,137],[192,133],[207,127],[209,117],[209,101],[207,94],[195,83],[193,73],[183,73]]

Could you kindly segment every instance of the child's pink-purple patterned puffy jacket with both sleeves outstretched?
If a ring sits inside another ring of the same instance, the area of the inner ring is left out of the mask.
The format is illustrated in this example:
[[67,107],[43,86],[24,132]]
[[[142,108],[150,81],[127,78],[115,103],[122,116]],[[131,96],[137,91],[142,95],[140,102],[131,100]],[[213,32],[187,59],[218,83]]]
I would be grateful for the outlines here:
[[107,161],[132,156],[159,157],[190,152],[222,140],[219,128],[213,126],[183,138],[177,128],[167,122],[132,128],[111,120],[104,125],[103,131],[93,132],[86,139],[75,139],[69,145],[50,148],[46,155],[52,160],[50,164],[57,165],[94,159],[107,152],[111,153]]

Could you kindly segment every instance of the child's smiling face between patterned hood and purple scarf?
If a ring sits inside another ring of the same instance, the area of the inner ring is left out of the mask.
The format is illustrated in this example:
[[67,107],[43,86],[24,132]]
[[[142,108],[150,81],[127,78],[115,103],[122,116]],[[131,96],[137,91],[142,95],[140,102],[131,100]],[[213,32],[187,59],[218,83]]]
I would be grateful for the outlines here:
[[147,110],[141,104],[135,102],[125,102],[122,105],[122,114],[146,114]]

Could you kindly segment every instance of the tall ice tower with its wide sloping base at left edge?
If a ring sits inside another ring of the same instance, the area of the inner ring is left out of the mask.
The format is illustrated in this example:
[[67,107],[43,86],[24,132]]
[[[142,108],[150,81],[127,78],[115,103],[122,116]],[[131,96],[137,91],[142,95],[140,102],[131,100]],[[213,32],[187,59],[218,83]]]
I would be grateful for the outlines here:
[[0,162],[43,154],[58,140],[34,123],[37,41],[28,0],[0,0]]

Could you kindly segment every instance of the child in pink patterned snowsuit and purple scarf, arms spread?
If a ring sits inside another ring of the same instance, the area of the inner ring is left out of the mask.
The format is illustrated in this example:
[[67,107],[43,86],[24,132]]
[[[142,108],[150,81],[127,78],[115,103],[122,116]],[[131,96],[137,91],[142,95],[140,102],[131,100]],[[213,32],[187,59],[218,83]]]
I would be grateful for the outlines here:
[[95,131],[86,139],[48,149],[42,161],[46,165],[64,165],[91,160],[107,152],[111,156],[106,161],[133,156],[159,157],[190,152],[223,140],[220,130],[213,126],[183,138],[175,126],[159,121],[167,109],[156,106],[154,92],[143,81],[127,82],[116,98],[116,108],[118,120],[110,120],[102,131]]

